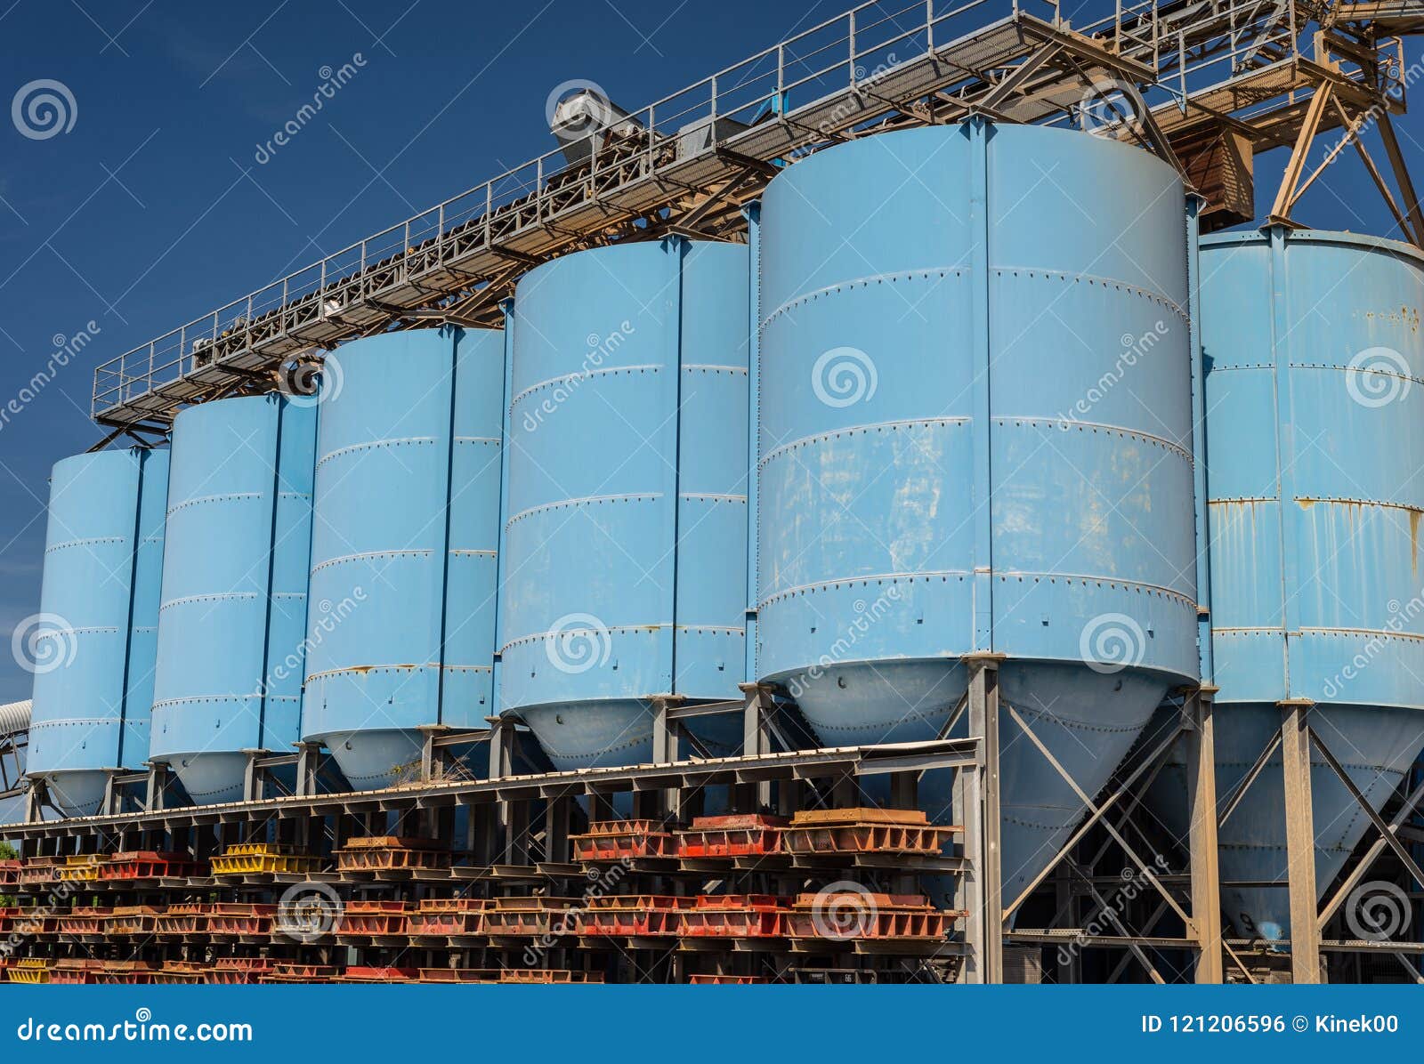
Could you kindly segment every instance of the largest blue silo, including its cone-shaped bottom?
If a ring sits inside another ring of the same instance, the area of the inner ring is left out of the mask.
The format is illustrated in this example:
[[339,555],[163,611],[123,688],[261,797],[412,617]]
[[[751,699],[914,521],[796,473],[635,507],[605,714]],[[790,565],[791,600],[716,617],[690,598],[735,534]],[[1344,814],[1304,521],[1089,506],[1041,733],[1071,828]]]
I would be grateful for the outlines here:
[[1008,708],[1094,794],[1198,676],[1185,212],[1143,151],[981,121],[762,201],[758,679],[911,741],[1002,654],[1007,898],[1084,811]]

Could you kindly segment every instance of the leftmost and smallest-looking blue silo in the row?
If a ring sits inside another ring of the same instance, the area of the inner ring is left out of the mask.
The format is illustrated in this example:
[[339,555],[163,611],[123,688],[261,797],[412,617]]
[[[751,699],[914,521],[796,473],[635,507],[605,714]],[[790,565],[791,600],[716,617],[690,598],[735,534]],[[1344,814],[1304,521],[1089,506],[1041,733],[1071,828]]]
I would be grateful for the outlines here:
[[28,772],[71,816],[98,809],[105,770],[148,758],[167,498],[168,451],[81,454],[50,478],[41,612],[26,654]]

